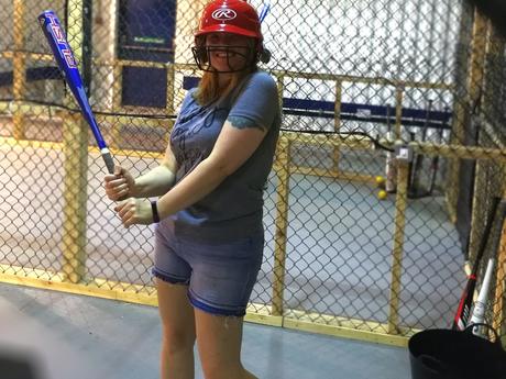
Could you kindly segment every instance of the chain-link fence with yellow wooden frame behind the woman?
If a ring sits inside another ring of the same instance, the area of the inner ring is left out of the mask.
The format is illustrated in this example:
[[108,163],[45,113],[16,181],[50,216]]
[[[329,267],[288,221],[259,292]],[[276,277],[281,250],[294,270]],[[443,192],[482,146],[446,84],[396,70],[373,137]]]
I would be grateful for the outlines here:
[[[59,15],[116,160],[139,175],[198,81],[205,1],[0,4],[0,280],[154,304],[153,228],[114,215],[36,16]],[[505,36],[458,0],[276,0],[262,29],[284,119],[248,319],[394,344],[448,327],[505,198]],[[503,221],[483,261],[506,338]]]

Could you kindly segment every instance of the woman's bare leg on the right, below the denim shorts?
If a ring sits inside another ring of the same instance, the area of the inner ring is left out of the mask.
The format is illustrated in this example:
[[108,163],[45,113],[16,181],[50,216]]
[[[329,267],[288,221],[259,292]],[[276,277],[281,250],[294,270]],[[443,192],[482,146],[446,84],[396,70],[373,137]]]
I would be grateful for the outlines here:
[[256,379],[241,364],[242,317],[195,310],[197,345],[206,379]]

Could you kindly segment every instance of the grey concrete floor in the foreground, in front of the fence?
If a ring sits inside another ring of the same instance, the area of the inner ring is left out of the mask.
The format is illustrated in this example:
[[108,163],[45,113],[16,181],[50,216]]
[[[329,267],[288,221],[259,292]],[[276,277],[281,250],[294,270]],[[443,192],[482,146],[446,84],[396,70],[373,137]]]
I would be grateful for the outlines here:
[[[156,379],[160,334],[156,308],[0,283],[0,358],[36,379]],[[261,379],[410,378],[406,348],[251,323],[242,356]]]

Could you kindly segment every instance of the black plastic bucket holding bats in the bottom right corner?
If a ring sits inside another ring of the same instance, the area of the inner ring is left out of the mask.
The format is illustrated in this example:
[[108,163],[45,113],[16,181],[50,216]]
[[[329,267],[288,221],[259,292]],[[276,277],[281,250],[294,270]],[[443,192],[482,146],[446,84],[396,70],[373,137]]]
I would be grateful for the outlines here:
[[475,336],[472,327],[419,332],[409,338],[408,349],[413,379],[506,379],[499,338]]

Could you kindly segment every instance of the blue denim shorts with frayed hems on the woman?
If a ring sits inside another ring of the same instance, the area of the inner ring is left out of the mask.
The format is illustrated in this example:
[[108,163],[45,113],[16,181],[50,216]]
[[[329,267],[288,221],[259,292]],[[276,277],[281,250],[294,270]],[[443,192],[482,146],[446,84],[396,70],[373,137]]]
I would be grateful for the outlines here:
[[[198,233],[198,228],[196,228]],[[243,316],[262,265],[264,234],[206,243],[156,227],[153,275],[169,283],[188,286],[190,303],[205,312]]]

